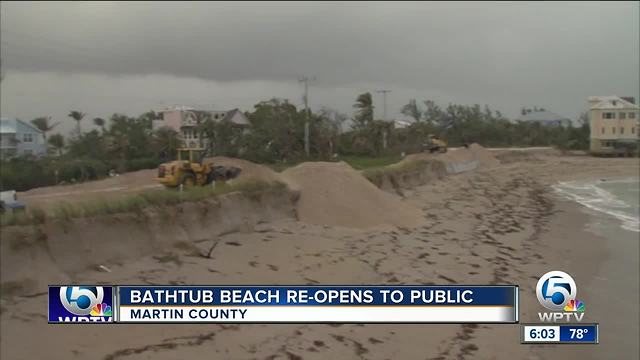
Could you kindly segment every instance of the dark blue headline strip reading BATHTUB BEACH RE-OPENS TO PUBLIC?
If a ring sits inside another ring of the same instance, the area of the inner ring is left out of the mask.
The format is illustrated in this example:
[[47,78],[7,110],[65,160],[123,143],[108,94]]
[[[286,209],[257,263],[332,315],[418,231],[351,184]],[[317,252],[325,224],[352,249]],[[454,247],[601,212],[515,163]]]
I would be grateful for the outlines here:
[[507,306],[517,286],[119,286],[121,306]]

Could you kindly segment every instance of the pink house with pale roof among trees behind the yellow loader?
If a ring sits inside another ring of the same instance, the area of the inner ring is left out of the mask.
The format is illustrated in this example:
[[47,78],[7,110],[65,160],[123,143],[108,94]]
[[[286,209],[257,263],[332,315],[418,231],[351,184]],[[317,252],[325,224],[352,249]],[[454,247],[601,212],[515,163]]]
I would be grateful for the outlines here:
[[222,111],[176,106],[160,113],[162,114],[162,119],[154,121],[154,129],[163,126],[172,128],[180,135],[182,146],[184,147],[206,146],[207,139],[200,139],[197,129],[203,115],[210,115],[213,121],[230,121],[235,126],[243,129],[247,129],[251,124],[249,119],[238,109]]

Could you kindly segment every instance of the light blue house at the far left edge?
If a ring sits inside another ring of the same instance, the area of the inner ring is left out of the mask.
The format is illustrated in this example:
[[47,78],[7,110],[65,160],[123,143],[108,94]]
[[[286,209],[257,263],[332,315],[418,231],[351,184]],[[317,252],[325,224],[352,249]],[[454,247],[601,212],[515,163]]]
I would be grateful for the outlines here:
[[44,134],[38,128],[20,119],[0,119],[0,159],[46,153]]

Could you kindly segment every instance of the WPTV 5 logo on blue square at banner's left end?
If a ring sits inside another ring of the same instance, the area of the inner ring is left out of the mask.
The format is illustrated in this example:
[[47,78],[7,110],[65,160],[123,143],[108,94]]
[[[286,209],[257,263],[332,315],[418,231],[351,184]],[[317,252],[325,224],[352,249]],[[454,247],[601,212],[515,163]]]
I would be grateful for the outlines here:
[[109,286],[49,286],[49,323],[113,322]]

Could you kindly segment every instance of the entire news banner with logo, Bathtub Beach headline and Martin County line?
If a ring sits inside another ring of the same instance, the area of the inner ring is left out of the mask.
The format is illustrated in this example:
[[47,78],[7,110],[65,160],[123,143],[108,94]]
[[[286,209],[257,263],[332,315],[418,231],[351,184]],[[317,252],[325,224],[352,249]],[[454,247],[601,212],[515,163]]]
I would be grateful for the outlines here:
[[50,286],[49,323],[517,323],[517,286]]

